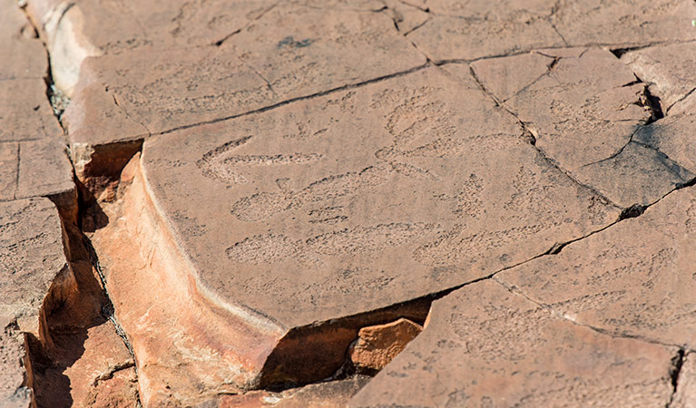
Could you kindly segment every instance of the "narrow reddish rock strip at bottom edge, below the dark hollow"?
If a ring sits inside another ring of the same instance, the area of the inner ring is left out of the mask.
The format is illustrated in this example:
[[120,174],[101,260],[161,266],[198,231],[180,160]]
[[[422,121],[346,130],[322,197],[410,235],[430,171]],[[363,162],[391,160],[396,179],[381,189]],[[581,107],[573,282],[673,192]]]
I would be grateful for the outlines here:
[[240,395],[224,396],[217,401],[197,405],[197,408],[320,408],[342,407],[360,388],[368,383],[369,377],[311,384],[281,393],[252,391]]

